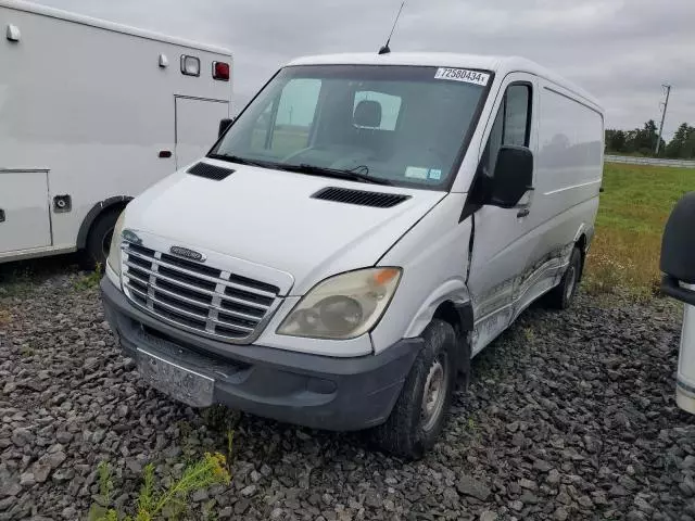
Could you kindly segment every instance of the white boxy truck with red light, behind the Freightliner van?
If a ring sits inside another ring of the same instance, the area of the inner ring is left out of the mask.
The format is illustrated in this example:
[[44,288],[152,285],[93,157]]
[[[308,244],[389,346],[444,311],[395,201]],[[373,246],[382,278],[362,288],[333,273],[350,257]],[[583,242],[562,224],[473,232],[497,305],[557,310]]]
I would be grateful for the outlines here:
[[229,117],[231,55],[14,0],[0,31],[0,263],[103,263],[127,201]]

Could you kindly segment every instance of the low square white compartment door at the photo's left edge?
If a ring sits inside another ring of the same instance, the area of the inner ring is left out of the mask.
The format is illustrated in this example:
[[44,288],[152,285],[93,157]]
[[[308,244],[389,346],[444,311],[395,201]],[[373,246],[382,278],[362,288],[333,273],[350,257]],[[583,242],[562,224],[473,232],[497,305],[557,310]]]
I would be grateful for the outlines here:
[[0,253],[50,245],[48,170],[0,169]]

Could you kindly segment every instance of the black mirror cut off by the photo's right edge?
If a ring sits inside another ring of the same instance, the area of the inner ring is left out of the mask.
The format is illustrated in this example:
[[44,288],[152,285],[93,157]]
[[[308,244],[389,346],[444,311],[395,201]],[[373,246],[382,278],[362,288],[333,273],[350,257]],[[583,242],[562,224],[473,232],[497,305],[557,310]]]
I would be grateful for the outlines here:
[[661,291],[667,295],[695,305],[695,291],[683,288],[680,282],[695,284],[695,192],[681,199],[666,224],[661,240],[660,268],[666,277]]

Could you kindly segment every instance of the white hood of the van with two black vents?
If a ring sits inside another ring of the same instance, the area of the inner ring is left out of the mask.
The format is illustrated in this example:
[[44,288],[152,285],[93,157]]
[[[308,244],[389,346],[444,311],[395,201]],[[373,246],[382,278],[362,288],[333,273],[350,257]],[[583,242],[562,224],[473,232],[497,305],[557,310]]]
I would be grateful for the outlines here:
[[[216,160],[205,163],[235,171],[213,180],[179,170],[128,204],[125,227],[285,271],[294,279],[293,295],[303,295],[331,275],[374,266],[445,196]],[[408,199],[383,208],[312,198],[329,187]]]

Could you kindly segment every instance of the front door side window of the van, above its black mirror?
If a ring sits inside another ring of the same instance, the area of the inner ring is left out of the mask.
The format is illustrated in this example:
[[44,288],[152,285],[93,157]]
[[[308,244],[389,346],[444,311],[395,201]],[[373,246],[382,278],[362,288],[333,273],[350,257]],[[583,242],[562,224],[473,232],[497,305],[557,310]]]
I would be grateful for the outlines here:
[[513,84],[507,90],[490,131],[483,161],[493,175],[497,153],[503,144],[528,147],[531,137],[531,86]]

